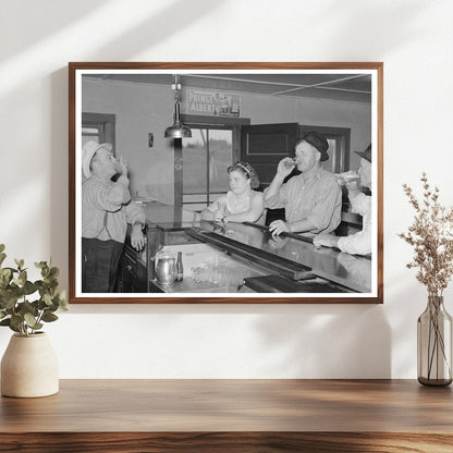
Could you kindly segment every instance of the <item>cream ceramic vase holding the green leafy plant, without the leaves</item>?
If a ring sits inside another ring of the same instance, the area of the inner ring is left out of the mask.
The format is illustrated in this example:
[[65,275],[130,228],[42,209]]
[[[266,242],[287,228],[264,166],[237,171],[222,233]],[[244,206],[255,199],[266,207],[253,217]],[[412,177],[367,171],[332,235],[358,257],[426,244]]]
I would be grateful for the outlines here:
[[58,391],[58,358],[47,334],[12,335],[1,359],[1,394],[38,397]]

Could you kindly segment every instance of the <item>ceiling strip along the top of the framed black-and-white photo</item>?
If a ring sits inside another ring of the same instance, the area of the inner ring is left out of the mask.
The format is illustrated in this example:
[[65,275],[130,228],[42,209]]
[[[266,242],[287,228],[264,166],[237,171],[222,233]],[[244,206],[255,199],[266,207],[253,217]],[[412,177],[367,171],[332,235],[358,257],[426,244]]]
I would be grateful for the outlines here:
[[[170,73],[110,73],[89,74],[84,75],[84,77],[137,84],[168,85],[169,87],[173,83],[173,74]],[[371,75],[365,73],[194,73],[181,74],[180,79],[183,88],[191,87],[207,90],[253,93],[258,95],[309,97],[354,102],[371,101]]]

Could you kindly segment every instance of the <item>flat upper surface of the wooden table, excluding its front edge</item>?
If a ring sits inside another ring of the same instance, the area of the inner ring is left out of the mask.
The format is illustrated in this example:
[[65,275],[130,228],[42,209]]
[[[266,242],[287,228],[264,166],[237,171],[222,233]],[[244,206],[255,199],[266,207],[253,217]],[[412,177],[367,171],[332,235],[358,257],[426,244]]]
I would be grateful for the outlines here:
[[17,432],[438,432],[451,388],[415,380],[61,380],[42,399],[0,399]]

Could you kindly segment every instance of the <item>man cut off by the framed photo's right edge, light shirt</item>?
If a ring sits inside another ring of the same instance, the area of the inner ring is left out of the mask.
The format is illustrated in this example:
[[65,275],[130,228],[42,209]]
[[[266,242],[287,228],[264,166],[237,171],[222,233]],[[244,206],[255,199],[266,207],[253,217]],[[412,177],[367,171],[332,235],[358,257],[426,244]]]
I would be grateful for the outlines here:
[[[371,145],[365,151],[356,151],[360,156],[360,167],[357,173],[362,187],[371,188]],[[352,212],[363,217],[362,231],[348,236],[319,234],[314,238],[316,246],[338,247],[351,255],[368,255],[371,253],[371,197],[360,192],[357,181],[346,182],[347,196]]]

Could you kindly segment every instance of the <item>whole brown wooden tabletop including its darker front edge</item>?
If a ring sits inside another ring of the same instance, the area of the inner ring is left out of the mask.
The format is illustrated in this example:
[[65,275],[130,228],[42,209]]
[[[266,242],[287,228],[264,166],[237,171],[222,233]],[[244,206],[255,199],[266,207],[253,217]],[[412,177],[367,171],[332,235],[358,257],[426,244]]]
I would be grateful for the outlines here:
[[452,407],[414,380],[62,380],[0,400],[0,452],[453,452]]

